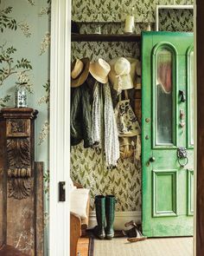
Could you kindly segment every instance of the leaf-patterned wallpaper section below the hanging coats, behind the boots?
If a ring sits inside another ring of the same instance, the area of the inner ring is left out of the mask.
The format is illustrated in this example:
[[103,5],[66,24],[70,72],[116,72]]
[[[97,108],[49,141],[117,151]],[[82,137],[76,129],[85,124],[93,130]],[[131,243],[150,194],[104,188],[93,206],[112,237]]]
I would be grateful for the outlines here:
[[114,194],[117,211],[141,210],[141,164],[133,159],[120,160],[118,167],[105,169],[103,154],[83,145],[72,147],[71,177],[91,188],[91,208],[94,196]]

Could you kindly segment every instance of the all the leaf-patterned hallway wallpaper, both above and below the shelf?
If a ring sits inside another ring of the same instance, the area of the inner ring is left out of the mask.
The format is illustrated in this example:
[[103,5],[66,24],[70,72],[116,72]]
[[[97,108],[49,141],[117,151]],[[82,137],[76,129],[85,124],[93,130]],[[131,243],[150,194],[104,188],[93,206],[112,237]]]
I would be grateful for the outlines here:
[[[119,17],[119,7],[122,3],[131,6],[137,5],[136,31],[145,29],[146,22],[151,21],[154,30],[154,10],[156,4],[190,4],[192,1],[81,1],[73,0],[73,20],[80,22],[80,33],[89,34],[100,25],[101,33],[122,33],[122,23]],[[124,6],[123,5],[123,6]],[[94,11],[92,11],[94,10]],[[118,11],[118,12],[117,12]],[[147,16],[148,14],[148,16]],[[103,23],[90,23],[95,22]],[[145,21],[145,23],[143,23]],[[162,10],[160,12],[160,30],[192,31],[193,13],[191,10]],[[137,43],[72,43],[72,60],[88,56],[92,61],[99,57],[107,62],[116,56],[140,56],[140,46]],[[141,162],[135,163],[132,159],[120,160],[118,167],[112,170],[105,169],[103,154],[93,149],[85,149],[82,144],[72,147],[71,177],[84,187],[91,189],[91,208],[94,208],[96,194],[115,194],[118,202],[117,211],[141,211]]]

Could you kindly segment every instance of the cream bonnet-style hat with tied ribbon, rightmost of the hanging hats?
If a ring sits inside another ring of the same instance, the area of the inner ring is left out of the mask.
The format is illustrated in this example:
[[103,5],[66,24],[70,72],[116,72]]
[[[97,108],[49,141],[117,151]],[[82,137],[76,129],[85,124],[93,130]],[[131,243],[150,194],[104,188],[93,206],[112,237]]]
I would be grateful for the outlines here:
[[[117,57],[109,62],[111,66],[111,72],[109,73],[109,79],[113,85],[113,89],[117,90],[118,94],[121,93],[122,89],[132,89],[133,81],[131,74],[134,75],[132,70],[135,64],[127,58]],[[132,66],[132,67],[131,67]]]

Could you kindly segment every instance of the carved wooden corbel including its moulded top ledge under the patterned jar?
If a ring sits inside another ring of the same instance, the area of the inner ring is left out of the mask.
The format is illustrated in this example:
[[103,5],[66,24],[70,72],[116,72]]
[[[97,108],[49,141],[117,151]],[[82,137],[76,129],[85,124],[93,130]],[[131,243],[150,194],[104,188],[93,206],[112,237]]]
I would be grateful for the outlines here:
[[34,161],[33,122],[37,111],[32,108],[3,108],[6,120],[7,174],[9,197],[22,200],[30,195]]

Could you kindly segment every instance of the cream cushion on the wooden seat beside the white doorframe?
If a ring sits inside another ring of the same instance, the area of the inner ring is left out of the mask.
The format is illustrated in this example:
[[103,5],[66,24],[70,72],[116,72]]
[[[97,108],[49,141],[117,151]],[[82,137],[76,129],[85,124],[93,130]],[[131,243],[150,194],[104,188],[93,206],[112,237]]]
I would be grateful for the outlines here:
[[73,188],[70,192],[70,212],[78,214],[80,218],[86,219],[86,205],[89,196],[89,189]]

